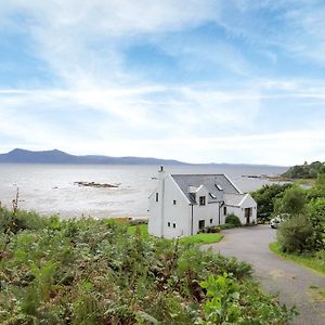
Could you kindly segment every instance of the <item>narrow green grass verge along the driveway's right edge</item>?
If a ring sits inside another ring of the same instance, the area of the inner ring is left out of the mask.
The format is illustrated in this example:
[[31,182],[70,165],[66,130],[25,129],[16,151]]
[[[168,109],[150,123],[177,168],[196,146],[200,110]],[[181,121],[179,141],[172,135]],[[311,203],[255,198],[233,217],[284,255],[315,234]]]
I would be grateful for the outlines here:
[[315,257],[313,257],[313,256],[283,252],[283,251],[281,251],[278,243],[271,243],[269,245],[269,247],[274,253],[281,256],[282,258],[294,261],[298,264],[310,268],[310,269],[317,271],[317,272],[322,273],[323,275],[325,275],[325,261],[315,259]]

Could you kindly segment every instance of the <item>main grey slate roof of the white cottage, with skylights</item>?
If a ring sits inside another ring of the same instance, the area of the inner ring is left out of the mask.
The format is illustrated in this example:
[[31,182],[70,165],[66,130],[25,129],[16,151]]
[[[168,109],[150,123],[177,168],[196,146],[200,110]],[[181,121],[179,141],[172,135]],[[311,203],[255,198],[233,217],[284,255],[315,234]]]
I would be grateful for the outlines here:
[[240,192],[224,174],[171,174],[171,177],[192,204],[196,204],[196,202],[188,193],[188,186],[199,187],[204,185],[213,196],[209,195],[208,203],[223,202],[226,193],[240,195]]

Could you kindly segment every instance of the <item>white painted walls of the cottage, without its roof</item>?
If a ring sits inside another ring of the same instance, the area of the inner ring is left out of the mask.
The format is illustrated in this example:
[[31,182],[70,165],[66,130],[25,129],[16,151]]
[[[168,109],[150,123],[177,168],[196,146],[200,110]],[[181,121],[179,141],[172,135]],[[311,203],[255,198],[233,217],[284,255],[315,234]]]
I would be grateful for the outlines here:
[[[158,193],[158,202],[156,202]],[[206,205],[199,205],[199,196],[206,197]],[[176,204],[173,203],[176,200]],[[193,206],[193,234],[199,231],[199,220],[205,220],[205,226],[224,224],[225,216],[223,206],[219,209],[219,203],[209,204],[209,192],[200,186],[196,192],[197,205]],[[247,194],[240,203],[240,207],[226,206],[226,214],[235,213],[243,224],[246,224],[245,208],[252,208],[250,222],[257,220],[257,204]],[[210,223],[212,219],[212,223]],[[174,226],[173,226],[174,225]],[[150,196],[148,233],[157,237],[176,238],[190,236],[192,230],[192,206],[179,188],[170,174],[159,172],[157,190]]]

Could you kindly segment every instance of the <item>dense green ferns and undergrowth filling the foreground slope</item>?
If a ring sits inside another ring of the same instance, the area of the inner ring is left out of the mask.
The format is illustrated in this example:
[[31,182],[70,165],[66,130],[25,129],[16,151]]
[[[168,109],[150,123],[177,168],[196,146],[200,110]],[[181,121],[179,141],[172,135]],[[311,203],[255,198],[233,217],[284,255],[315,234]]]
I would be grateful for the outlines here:
[[[207,235],[207,234],[204,234]],[[0,208],[1,324],[284,324],[245,262],[113,220]]]

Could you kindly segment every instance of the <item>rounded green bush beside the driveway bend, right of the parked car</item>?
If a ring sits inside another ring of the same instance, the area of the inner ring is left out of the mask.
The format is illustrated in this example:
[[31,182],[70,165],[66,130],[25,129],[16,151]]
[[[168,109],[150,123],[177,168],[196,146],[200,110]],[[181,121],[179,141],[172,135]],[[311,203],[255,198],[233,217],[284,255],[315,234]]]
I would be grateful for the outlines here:
[[303,252],[313,250],[313,227],[303,214],[284,220],[277,230],[277,240],[284,252]]

